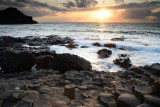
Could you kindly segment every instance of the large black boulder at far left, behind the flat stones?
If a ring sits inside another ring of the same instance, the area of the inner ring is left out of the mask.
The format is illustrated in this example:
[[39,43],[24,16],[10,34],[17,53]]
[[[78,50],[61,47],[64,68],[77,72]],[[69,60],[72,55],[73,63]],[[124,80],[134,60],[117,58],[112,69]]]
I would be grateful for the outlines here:
[[4,73],[29,71],[35,64],[35,57],[28,52],[11,55],[2,64]]

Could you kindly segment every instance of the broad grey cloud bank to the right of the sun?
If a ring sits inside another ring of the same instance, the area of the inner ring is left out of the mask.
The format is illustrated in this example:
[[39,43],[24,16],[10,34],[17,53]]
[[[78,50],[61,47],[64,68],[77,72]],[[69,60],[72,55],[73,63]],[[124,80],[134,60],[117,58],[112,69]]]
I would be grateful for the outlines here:
[[[108,9],[124,9],[125,11],[121,14],[121,17],[125,19],[137,19],[147,20],[149,16],[152,16],[157,20],[160,20],[160,12],[153,12],[153,9],[160,8],[159,1],[143,2],[143,3],[129,3],[117,6],[107,6]],[[152,19],[152,20],[155,20]]]

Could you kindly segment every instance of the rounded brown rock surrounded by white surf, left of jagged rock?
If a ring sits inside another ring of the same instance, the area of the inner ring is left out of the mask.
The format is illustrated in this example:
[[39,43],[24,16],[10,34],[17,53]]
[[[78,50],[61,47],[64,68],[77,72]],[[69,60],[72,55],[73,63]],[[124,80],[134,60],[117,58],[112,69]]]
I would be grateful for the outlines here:
[[108,58],[112,54],[112,51],[107,49],[101,49],[97,52],[97,54],[100,58]]

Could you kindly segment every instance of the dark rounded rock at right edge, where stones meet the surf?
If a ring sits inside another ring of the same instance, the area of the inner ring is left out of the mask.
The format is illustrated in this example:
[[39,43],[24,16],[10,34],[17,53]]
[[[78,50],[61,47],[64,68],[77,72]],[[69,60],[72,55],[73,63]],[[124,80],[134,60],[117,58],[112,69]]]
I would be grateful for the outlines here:
[[151,65],[151,73],[153,75],[160,75],[160,64],[159,63],[155,63]]

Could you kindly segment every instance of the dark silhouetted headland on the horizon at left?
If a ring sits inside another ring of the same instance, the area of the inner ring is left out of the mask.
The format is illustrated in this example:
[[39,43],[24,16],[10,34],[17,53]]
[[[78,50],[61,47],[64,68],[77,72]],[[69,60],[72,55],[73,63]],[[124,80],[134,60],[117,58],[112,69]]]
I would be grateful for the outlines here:
[[0,24],[36,24],[31,16],[26,16],[17,8],[9,7],[0,10]]

